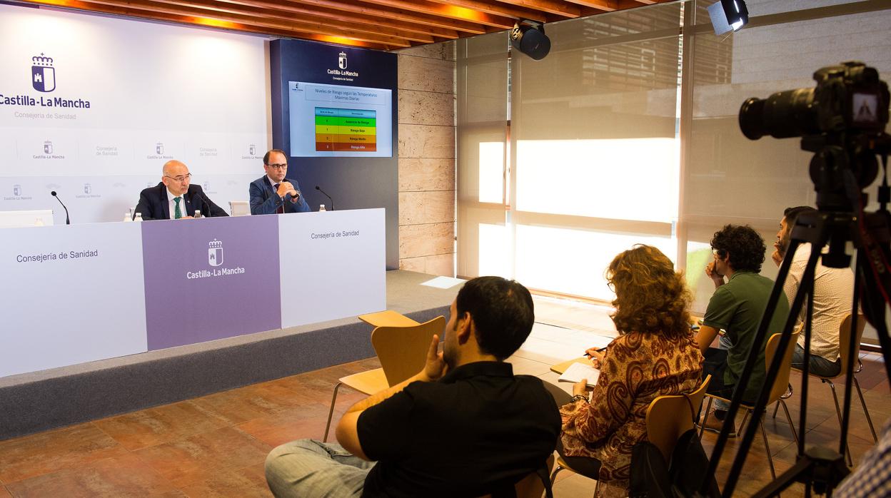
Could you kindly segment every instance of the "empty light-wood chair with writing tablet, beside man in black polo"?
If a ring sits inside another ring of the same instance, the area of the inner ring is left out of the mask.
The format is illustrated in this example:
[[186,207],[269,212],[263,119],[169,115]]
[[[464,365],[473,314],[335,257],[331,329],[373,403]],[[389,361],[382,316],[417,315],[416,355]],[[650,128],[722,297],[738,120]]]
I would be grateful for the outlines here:
[[359,318],[376,325],[372,331],[372,347],[380,360],[380,368],[354,373],[338,380],[331,396],[331,409],[328,411],[323,441],[328,440],[334,404],[337,402],[337,393],[341,385],[356,389],[365,395],[372,395],[408,379],[424,368],[430,339],[433,334],[442,333],[446,327],[446,318],[443,316],[437,316],[424,323],[415,322],[393,311],[363,315]]

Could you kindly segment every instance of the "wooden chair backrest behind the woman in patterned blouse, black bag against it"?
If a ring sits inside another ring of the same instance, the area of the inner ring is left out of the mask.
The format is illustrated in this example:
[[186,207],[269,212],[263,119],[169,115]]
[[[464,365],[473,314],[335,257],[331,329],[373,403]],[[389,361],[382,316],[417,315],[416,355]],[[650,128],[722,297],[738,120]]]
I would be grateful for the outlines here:
[[686,396],[658,396],[650,402],[646,419],[647,439],[658,447],[666,461],[671,461],[671,453],[674,452],[674,444],[678,438],[684,432],[693,429],[693,417],[699,411],[699,405],[706,396],[708,382],[711,380],[712,376],[707,376],[699,388]]

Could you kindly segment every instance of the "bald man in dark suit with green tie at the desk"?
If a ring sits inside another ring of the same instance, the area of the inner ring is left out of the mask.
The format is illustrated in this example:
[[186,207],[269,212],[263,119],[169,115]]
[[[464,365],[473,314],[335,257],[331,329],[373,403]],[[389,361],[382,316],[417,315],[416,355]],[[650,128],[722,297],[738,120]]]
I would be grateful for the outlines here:
[[192,218],[195,211],[202,216],[229,216],[201,191],[200,185],[190,185],[192,174],[182,162],[164,163],[161,183],[144,189],[139,194],[136,214],[143,220]]

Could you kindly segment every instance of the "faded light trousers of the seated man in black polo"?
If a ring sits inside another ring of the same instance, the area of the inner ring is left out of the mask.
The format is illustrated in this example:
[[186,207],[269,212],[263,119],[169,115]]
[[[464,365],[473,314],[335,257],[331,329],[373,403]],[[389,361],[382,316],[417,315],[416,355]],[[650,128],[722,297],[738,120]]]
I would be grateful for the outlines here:
[[359,498],[374,463],[336,443],[298,439],[275,447],[266,457],[266,483],[278,498]]

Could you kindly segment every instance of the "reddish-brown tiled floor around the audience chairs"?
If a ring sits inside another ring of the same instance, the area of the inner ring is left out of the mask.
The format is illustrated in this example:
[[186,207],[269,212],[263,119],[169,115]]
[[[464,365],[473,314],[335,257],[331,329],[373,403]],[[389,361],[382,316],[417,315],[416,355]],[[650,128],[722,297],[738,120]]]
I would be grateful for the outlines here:
[[[514,371],[556,382],[549,366],[580,355],[615,334],[607,310],[599,306],[536,298],[533,335],[511,357]],[[877,429],[891,416],[891,396],[879,355],[865,355],[858,375]],[[333,366],[244,388],[157,406],[103,420],[0,441],[0,498],[7,496],[270,496],[263,461],[275,445],[300,437],[321,438],[340,377],[379,366],[375,359]],[[793,373],[793,386],[800,376]],[[570,385],[561,383],[569,389]],[[808,445],[838,445],[838,420],[830,390],[811,380]],[[798,390],[798,389],[797,389]],[[839,389],[843,391],[842,389]],[[839,393],[841,396],[841,393]],[[361,396],[341,389],[337,412]],[[789,403],[797,423],[798,398]],[[872,437],[854,397],[850,430],[854,462]],[[764,420],[777,472],[795,461],[796,447],[782,413]],[[716,436],[706,433],[708,452]],[[732,462],[731,440],[718,469],[718,482]],[[737,486],[741,496],[770,480],[760,435],[748,454]],[[594,481],[564,471],[554,494],[591,496]],[[801,485],[789,496],[803,495]]]

